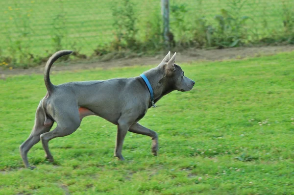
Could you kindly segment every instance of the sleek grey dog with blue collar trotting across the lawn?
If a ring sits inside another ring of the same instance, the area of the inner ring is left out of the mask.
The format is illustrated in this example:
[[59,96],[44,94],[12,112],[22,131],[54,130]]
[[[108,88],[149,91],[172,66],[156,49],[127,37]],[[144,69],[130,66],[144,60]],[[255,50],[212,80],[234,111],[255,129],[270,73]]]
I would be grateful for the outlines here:
[[[169,52],[157,67],[141,74],[146,78],[140,75],[133,78],[53,85],[49,78],[52,64],[61,56],[70,53],[70,50],[58,51],[46,64],[44,80],[47,94],[37,107],[31,134],[20,146],[25,167],[34,168],[28,163],[27,152],[40,140],[46,158],[53,161],[48,142],[53,138],[72,134],[80,126],[82,119],[90,115],[102,117],[117,125],[114,156],[119,160],[124,160],[123,140],[128,131],[151,137],[151,151],[153,155],[157,155],[157,133],[142,126],[138,121],[145,116],[147,109],[154,106],[164,95],[174,90],[185,92],[193,88],[195,82],[184,75],[181,67],[174,64],[176,53],[171,58]],[[50,131],[54,122],[57,122],[57,126]]]

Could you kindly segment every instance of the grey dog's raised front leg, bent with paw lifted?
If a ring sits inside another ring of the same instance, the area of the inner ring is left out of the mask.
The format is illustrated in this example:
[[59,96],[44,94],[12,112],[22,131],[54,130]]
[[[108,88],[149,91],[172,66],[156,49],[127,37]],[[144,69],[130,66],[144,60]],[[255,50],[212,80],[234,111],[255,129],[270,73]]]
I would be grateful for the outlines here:
[[135,124],[132,124],[129,128],[130,132],[133,133],[137,133],[137,134],[141,134],[141,135],[147,135],[149,137],[151,137],[152,139],[152,147],[151,147],[151,151],[153,153],[154,156],[157,155],[157,150],[158,150],[158,136],[157,133],[155,131],[152,131],[144,126],[142,126],[141,124],[139,124],[138,122]]

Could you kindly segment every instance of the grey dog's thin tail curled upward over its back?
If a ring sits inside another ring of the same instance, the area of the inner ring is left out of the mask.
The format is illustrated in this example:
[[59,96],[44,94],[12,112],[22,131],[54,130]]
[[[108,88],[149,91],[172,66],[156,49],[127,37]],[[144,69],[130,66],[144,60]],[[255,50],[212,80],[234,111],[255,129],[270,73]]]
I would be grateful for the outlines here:
[[48,91],[48,95],[50,95],[54,89],[54,85],[50,81],[50,68],[51,68],[52,64],[61,56],[68,55],[72,52],[73,51],[71,51],[71,50],[57,51],[47,61],[46,66],[45,66],[45,71],[44,71],[44,81],[45,81],[45,85],[46,85],[46,88]]

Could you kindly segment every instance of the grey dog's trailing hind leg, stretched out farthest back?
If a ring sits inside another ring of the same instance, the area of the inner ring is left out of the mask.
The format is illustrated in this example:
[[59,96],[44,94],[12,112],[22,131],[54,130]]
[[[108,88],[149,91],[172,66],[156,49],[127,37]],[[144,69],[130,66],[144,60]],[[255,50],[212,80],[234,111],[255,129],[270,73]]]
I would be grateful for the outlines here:
[[42,133],[46,133],[46,132],[50,131],[50,129],[53,125],[53,121],[52,121],[51,123],[46,123],[46,126],[45,126],[45,124],[44,124],[45,119],[46,119],[46,116],[45,116],[45,112],[42,107],[42,100],[41,100],[41,102],[37,108],[37,111],[36,111],[35,124],[32,129],[32,132],[29,135],[29,137],[27,138],[27,140],[20,146],[20,153],[21,153],[21,156],[22,156],[22,159],[24,161],[26,168],[31,168],[31,169],[34,168],[34,167],[29,166],[29,163],[27,160],[27,152],[29,151],[29,149],[32,146],[34,146],[35,144],[37,144],[40,141],[40,135]]

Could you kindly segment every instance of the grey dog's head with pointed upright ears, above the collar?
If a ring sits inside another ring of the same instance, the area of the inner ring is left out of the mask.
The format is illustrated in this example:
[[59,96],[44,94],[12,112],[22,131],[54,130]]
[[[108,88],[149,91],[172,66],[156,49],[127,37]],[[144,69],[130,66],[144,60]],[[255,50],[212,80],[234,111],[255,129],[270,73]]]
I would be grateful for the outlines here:
[[180,66],[174,64],[176,52],[170,57],[171,52],[169,52],[165,58],[160,63],[160,67],[163,69],[163,75],[167,78],[168,82],[173,85],[175,90],[186,92],[190,91],[195,82],[185,76],[184,71]]

